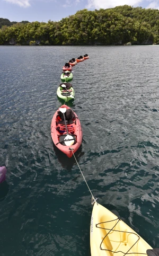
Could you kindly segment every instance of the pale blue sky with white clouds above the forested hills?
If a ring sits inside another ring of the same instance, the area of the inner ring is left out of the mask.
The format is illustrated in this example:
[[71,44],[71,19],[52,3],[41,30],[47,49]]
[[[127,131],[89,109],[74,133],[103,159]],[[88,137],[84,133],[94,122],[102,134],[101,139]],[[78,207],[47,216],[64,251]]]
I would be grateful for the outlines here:
[[0,0],[0,17],[10,21],[58,21],[84,8],[92,11],[125,4],[159,10],[159,0]]

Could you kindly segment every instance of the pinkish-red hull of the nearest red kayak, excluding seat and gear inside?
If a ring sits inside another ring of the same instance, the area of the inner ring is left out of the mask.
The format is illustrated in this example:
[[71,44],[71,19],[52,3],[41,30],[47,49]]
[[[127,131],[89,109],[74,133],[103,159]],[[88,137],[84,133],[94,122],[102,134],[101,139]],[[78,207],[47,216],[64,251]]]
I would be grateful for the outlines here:
[[[60,108],[70,109],[67,105],[62,105]],[[73,153],[75,153],[77,151],[77,149],[80,147],[80,145],[82,143],[83,133],[82,133],[82,128],[81,128],[81,123],[77,117],[77,114],[74,112],[75,121],[71,125],[67,125],[67,129],[68,130],[69,130],[69,128],[74,129],[74,133],[73,134],[69,133],[69,134],[72,136],[75,136],[76,142],[74,145],[71,145],[71,146],[61,145],[61,143],[59,143],[61,133],[57,129],[57,127],[58,127],[58,120],[57,120],[58,111],[59,111],[59,109],[55,112],[55,114],[52,118],[52,121],[51,121],[51,138],[52,138],[52,141],[54,142],[55,146],[61,152],[63,152],[70,158],[70,157],[72,157]],[[72,148],[72,150],[70,148]]]

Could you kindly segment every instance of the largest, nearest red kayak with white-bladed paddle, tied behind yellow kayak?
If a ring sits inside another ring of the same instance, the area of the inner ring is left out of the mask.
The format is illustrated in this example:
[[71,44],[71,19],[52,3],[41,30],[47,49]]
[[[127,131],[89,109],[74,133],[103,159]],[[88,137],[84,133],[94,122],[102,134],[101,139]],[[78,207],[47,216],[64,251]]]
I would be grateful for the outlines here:
[[51,121],[51,137],[55,146],[68,157],[72,157],[73,152],[75,153],[80,147],[82,143],[81,123],[77,114],[67,105],[62,105],[55,112]]

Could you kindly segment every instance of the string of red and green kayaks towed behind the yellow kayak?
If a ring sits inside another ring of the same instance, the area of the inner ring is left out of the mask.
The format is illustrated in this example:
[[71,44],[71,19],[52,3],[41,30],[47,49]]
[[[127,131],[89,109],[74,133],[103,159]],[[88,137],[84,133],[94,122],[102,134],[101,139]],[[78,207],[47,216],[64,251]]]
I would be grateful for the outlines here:
[[[89,59],[89,55],[86,54],[77,59],[72,58],[63,66],[63,73],[60,76],[63,83],[60,83],[57,88],[57,96],[65,103],[74,100],[75,97],[74,88],[69,83],[73,79],[72,66],[75,66],[77,62],[84,61],[84,58]],[[73,153],[81,146],[83,133],[77,114],[65,103],[61,105],[52,118],[51,138],[61,152],[72,157]]]

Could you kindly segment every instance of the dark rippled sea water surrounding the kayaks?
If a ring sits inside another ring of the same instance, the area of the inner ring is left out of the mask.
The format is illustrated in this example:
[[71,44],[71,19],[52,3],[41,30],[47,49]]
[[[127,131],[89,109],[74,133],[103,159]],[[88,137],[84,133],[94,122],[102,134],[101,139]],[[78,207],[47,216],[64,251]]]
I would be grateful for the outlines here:
[[62,67],[84,54],[75,157],[99,204],[159,247],[159,46],[1,46],[1,256],[91,255],[91,193],[50,133]]

